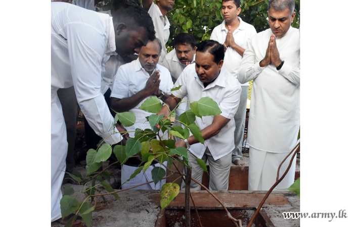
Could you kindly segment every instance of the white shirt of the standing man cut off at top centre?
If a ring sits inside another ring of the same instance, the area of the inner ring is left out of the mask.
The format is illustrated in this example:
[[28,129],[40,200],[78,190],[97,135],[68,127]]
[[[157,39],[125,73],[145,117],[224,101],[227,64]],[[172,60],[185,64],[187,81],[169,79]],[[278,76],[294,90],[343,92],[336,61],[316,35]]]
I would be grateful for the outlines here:
[[167,54],[166,43],[169,37],[170,23],[167,16],[163,17],[160,8],[156,6],[154,2],[152,2],[148,13],[154,23],[156,38],[158,38],[162,44],[162,51],[159,59],[159,64],[161,64]]

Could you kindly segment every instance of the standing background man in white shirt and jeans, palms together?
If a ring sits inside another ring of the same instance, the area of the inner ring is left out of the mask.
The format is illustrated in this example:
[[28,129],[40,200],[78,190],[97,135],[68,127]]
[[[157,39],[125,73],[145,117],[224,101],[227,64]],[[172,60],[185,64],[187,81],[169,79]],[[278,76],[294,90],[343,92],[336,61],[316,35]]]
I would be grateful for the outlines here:
[[[222,4],[224,21],[213,29],[210,39],[224,43],[224,66],[237,78],[237,72],[243,52],[247,46],[247,41],[257,32],[252,25],[247,24],[238,17],[241,12],[240,0],[223,0]],[[241,87],[240,105],[235,115],[235,149],[232,152],[232,162],[236,165],[245,165],[245,163],[240,160],[240,157],[242,157],[242,142],[246,120],[248,82],[241,84]]]

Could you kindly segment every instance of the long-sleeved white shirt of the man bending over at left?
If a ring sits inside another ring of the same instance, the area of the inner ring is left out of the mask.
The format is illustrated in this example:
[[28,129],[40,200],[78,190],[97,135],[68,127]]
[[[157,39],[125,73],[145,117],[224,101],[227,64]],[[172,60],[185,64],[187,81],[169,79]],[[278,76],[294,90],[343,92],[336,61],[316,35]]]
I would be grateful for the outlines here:
[[119,134],[110,136],[114,119],[101,93],[104,63],[116,54],[112,18],[54,2],[51,33],[52,94],[74,85],[77,102],[97,135],[109,144],[119,142]]

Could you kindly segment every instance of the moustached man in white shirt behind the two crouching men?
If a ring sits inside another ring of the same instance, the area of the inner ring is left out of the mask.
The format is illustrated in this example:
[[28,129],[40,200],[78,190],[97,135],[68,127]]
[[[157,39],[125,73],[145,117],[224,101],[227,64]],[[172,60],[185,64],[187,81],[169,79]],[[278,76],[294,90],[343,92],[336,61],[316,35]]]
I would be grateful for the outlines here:
[[195,62],[196,49],[195,38],[192,34],[182,32],[174,37],[174,49],[167,53],[161,64],[171,73],[173,83],[186,66]]

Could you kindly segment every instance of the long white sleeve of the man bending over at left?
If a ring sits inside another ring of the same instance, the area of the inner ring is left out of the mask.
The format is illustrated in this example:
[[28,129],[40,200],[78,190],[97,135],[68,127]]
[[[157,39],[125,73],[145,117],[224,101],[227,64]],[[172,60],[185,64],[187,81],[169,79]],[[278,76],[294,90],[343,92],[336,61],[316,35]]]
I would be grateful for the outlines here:
[[114,119],[101,93],[105,39],[95,28],[79,23],[68,25],[67,36],[70,68],[78,104],[96,134],[106,143],[117,143],[120,141],[120,134],[113,134]]

